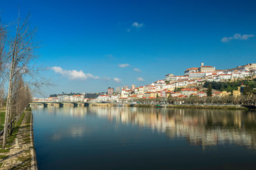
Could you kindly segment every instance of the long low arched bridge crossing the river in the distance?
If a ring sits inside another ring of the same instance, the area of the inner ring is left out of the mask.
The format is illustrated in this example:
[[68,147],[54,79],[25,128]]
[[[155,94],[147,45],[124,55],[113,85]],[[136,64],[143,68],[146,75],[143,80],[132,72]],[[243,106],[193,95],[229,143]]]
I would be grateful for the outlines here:
[[89,106],[89,103],[86,102],[76,102],[76,101],[33,101],[31,103],[29,103],[29,105],[33,105],[33,104],[43,104],[44,108],[47,108],[48,106],[59,106],[59,107],[63,107],[63,106],[73,106],[73,107],[78,107],[78,106]]

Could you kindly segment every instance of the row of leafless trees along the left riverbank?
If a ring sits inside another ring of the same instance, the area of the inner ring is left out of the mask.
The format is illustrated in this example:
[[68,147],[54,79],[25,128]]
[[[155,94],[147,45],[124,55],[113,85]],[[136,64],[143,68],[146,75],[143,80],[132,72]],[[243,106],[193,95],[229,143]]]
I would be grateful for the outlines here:
[[6,103],[3,148],[11,134],[11,120],[21,118],[31,102],[31,93],[48,84],[41,76],[42,69],[35,64],[39,46],[36,29],[28,21],[29,16],[21,19],[19,13],[16,21],[9,24],[0,20],[0,103]]

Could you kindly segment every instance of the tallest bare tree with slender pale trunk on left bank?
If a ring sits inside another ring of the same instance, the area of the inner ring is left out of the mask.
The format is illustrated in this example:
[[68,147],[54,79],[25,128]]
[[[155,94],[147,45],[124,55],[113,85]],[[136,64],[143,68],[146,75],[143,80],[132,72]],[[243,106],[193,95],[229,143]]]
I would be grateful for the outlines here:
[[[41,77],[40,72],[42,69],[38,69],[38,67],[33,64],[37,58],[36,49],[38,48],[38,43],[34,42],[36,29],[31,29],[28,26],[28,18],[29,16],[21,21],[18,15],[17,21],[12,24],[12,28],[15,28],[14,36],[10,36],[8,43],[9,50],[8,54],[6,54],[6,58],[8,59],[6,65],[8,66],[9,86],[6,98],[3,148],[6,145],[9,120],[14,118],[14,114],[16,114],[12,112],[12,108],[14,108],[14,106],[21,108],[26,107],[19,104],[14,105],[17,104],[14,98],[18,97],[18,99],[20,99],[20,95],[23,95],[22,93],[18,94],[18,92],[22,90],[28,92],[28,86],[36,90],[39,89],[41,85],[48,84],[46,79]],[[31,96],[31,94],[28,95]],[[21,108],[18,108],[19,112]],[[16,111],[17,108],[14,110]]]

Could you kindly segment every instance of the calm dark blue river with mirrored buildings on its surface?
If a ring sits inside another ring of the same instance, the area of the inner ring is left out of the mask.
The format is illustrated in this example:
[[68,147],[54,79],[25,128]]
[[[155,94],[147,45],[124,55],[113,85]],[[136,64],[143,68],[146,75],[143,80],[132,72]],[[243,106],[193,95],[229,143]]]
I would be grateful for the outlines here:
[[256,112],[33,107],[39,169],[255,169]]

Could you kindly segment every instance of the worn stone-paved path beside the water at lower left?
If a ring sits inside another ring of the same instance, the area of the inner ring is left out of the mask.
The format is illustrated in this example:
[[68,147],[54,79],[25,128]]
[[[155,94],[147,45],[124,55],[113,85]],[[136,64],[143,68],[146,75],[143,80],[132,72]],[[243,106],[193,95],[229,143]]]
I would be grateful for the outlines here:
[[34,154],[32,136],[31,113],[25,113],[21,127],[16,134],[18,147],[15,146],[14,141],[14,144],[9,148],[9,152],[1,153],[2,155],[8,156],[8,158],[0,160],[0,163],[2,163],[0,169],[36,169],[36,166],[31,164],[31,162],[34,162],[34,160],[31,159]]

